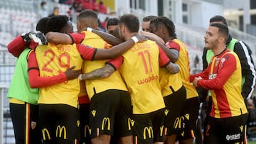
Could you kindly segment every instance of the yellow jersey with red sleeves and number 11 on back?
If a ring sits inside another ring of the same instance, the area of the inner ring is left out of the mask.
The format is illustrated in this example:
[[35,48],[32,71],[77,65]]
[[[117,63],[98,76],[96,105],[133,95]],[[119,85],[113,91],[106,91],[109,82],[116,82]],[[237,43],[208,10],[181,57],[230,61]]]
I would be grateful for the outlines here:
[[159,65],[168,65],[169,58],[154,41],[135,44],[122,57],[110,61],[124,77],[131,94],[133,113],[150,113],[165,107],[159,84]]

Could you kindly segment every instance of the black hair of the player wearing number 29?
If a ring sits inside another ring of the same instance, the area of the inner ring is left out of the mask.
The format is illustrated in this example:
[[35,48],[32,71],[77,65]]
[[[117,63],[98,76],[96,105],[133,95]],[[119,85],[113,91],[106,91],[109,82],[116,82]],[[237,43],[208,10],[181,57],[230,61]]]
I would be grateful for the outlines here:
[[46,27],[48,28],[48,31],[61,32],[62,29],[68,24],[68,21],[68,16],[53,16],[48,20]]

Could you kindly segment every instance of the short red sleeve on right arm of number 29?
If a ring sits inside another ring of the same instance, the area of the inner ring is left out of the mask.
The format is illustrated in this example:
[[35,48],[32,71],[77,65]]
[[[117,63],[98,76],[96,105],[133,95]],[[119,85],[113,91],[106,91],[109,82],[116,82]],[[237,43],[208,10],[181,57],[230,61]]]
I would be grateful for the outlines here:
[[91,48],[87,45],[78,44],[76,45],[78,52],[84,60],[94,60],[97,48]]

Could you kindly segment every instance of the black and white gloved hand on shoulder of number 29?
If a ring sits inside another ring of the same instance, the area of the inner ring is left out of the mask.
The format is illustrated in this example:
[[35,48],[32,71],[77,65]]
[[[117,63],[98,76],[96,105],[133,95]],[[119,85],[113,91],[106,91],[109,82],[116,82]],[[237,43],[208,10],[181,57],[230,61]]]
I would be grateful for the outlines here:
[[29,38],[34,42],[38,43],[38,45],[46,45],[48,40],[46,39],[46,35],[41,33],[41,31],[31,31],[29,32]]

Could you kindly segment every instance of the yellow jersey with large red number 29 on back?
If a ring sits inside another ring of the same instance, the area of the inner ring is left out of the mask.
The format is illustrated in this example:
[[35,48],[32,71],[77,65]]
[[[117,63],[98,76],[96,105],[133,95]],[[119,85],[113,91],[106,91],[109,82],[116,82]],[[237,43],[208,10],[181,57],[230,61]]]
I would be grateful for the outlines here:
[[[75,70],[82,67],[84,60],[92,60],[95,48],[87,48],[83,45],[38,45],[36,59],[41,77],[51,77],[65,72],[75,66]],[[82,57],[81,57],[82,55]],[[80,82],[78,79],[69,80],[39,90],[38,104],[68,104],[78,106],[78,94]]]

